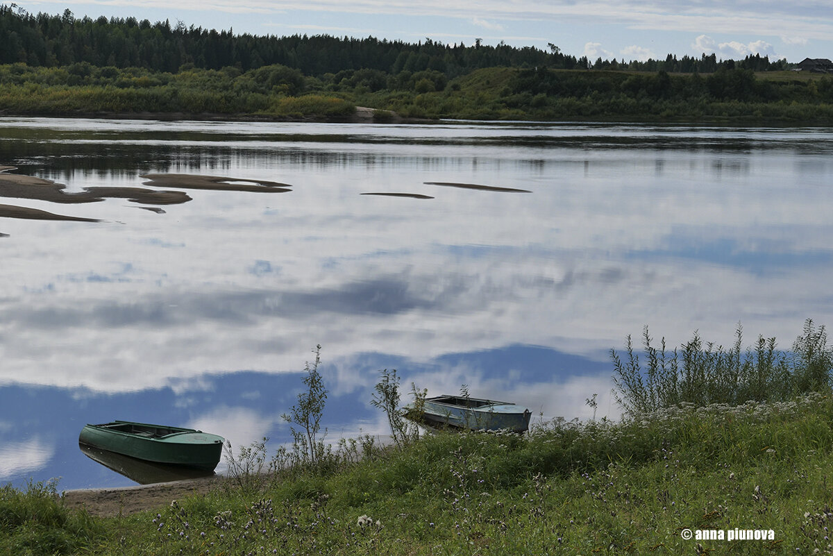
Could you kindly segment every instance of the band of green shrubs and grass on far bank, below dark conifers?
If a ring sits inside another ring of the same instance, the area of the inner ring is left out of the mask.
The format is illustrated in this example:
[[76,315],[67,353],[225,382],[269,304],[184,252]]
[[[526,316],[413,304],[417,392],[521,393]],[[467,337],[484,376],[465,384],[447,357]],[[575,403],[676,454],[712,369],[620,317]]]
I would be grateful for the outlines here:
[[[833,80],[794,72],[700,74],[488,67],[304,75],[281,65],[242,72],[183,66],[0,66],[0,113],[347,120],[356,107],[410,118],[627,122],[833,122]],[[386,121],[381,116],[380,122]]]

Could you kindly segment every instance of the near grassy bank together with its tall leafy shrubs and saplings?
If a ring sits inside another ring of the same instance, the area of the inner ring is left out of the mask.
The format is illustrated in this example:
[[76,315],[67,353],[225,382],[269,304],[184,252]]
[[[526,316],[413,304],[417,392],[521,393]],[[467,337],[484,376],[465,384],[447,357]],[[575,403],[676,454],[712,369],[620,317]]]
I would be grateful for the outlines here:
[[[660,346],[646,328],[644,368],[630,337],[624,360],[611,350],[620,422],[523,435],[420,436],[382,370],[382,447],[323,444],[319,345],[283,416],[291,448],[269,461],[265,439],[229,444],[215,489],[129,516],[70,509],[55,484],[4,487],[0,554],[833,554],[825,328],[807,320],[789,352],[763,337],[744,350],[740,325],[727,349]],[[426,391],[411,393],[418,411]]]

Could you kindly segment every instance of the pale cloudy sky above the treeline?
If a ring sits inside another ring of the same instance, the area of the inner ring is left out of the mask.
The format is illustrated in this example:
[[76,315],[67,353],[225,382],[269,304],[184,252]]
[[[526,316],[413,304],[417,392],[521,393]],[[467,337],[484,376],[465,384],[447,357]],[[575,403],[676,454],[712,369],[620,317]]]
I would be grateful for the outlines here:
[[801,62],[833,58],[829,0],[18,0],[28,12],[137,17],[287,36],[506,42],[572,56],[644,61],[667,54]]

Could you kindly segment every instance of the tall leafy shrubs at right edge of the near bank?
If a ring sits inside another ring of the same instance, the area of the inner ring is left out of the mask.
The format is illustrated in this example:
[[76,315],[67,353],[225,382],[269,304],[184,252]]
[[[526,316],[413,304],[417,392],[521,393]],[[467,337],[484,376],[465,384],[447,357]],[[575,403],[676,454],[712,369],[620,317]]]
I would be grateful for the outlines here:
[[738,325],[735,342],[724,348],[704,341],[699,333],[668,350],[665,338],[653,345],[648,327],[642,330],[646,365],[626,339],[624,360],[611,350],[616,401],[626,414],[646,413],[681,403],[739,405],[747,400],[783,401],[831,388],[833,350],[824,326],[806,320],[790,351],[779,350],[775,338],[759,336],[744,348]]

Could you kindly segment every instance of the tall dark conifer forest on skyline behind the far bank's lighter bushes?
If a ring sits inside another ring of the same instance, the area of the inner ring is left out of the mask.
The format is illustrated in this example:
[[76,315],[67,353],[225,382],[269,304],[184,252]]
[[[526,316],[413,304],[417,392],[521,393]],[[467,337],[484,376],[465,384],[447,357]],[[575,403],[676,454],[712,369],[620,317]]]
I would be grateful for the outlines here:
[[[411,44],[374,37],[255,37],[134,17],[77,19],[68,9],[62,16],[35,16],[3,6],[0,63],[14,62],[47,67],[87,62],[97,67],[144,67],[157,72],[177,72],[186,64],[216,70],[232,66],[244,72],[281,64],[315,76],[367,68],[390,73],[434,70],[449,77],[480,67],[546,65],[569,69],[579,64],[576,57],[556,47],[545,52],[504,44],[491,47],[479,40],[466,47],[431,39]],[[586,67],[586,59],[581,63]]]

